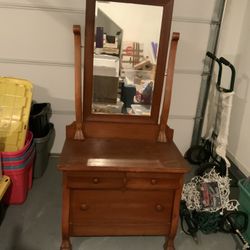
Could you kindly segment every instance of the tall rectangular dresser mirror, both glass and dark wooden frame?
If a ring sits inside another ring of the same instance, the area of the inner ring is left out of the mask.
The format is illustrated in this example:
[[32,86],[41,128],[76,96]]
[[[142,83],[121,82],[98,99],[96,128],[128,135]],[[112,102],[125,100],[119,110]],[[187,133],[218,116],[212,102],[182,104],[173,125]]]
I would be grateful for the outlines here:
[[158,122],[170,2],[86,1],[85,121]]

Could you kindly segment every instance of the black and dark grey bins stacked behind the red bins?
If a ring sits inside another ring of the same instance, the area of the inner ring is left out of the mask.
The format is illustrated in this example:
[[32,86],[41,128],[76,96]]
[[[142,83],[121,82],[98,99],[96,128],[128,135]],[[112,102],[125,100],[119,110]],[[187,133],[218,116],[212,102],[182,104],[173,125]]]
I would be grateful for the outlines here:
[[34,135],[36,148],[34,178],[42,177],[48,166],[49,153],[55,138],[54,125],[49,122],[51,113],[50,103],[34,103],[31,107],[29,128]]

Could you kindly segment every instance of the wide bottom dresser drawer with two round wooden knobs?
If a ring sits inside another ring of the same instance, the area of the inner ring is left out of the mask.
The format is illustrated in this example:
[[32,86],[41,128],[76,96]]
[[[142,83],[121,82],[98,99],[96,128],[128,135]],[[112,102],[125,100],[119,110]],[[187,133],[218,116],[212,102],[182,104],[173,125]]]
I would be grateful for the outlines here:
[[70,221],[84,225],[165,225],[174,191],[71,190]]

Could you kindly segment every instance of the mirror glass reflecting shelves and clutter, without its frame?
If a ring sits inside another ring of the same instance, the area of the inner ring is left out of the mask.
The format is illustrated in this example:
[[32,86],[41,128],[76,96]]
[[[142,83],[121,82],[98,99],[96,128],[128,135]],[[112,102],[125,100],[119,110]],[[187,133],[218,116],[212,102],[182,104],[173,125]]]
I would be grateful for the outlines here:
[[162,11],[96,2],[93,113],[150,116]]

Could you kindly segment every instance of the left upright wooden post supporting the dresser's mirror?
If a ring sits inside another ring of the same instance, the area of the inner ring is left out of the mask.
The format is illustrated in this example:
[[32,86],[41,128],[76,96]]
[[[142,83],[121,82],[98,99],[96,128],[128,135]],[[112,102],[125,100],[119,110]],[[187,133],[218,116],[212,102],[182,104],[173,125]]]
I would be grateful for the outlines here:
[[75,113],[76,113],[76,131],[74,139],[84,140],[82,128],[82,53],[81,53],[81,27],[73,26],[75,43]]

